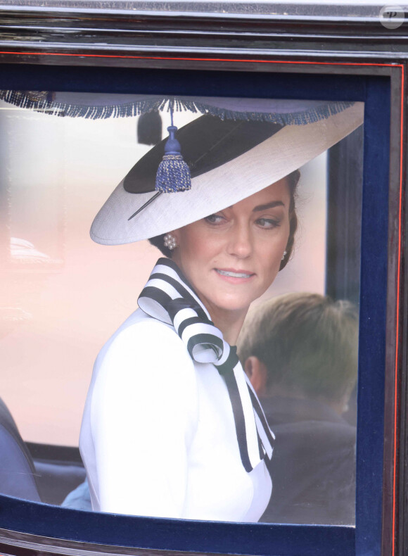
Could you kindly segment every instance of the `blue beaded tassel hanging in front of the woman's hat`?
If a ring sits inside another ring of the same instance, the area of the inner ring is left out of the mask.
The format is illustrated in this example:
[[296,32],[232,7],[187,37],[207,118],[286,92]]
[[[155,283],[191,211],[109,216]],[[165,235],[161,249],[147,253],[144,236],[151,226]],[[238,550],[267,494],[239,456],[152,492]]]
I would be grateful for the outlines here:
[[169,139],[165,144],[165,154],[156,174],[155,190],[161,193],[174,193],[191,189],[189,166],[181,156],[181,146],[174,137],[177,127],[173,125],[173,110],[170,110],[172,125],[167,127]]

